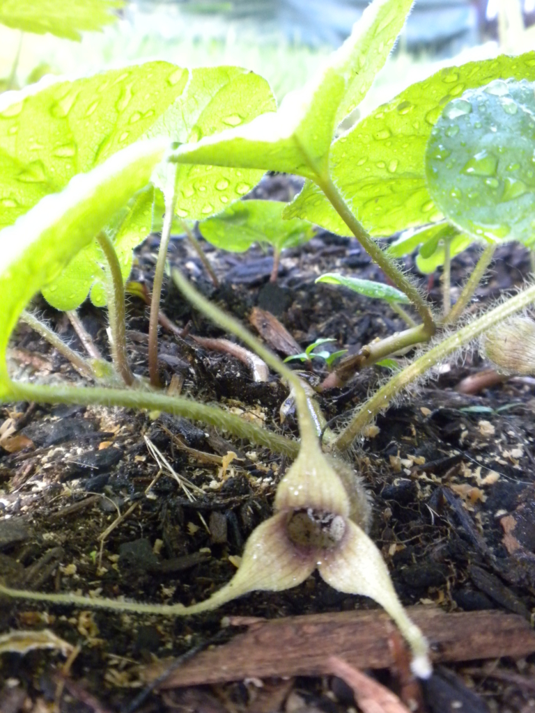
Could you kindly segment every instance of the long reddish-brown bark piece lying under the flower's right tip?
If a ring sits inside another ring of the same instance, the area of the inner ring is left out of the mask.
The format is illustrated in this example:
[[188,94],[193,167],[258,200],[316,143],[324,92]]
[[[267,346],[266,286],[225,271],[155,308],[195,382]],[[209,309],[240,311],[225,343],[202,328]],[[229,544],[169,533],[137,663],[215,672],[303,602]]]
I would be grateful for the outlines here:
[[[469,661],[535,651],[535,632],[517,615],[499,611],[446,614],[430,607],[407,607],[432,647],[432,660]],[[389,668],[394,664],[389,636],[392,620],[379,610],[263,620],[232,617],[247,625],[224,646],[200,653],[173,671],[160,688],[220,683],[246,677],[319,676],[329,674],[331,655],[356,668]],[[146,681],[170,666],[161,661],[141,671]]]

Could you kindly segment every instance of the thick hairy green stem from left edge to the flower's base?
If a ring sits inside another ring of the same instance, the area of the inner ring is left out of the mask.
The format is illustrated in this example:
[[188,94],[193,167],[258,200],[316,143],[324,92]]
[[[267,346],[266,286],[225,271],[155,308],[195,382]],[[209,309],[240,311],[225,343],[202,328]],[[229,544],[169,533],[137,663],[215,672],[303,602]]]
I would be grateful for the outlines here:
[[275,453],[283,453],[295,458],[299,443],[285,436],[273,434],[267,429],[240,419],[218,406],[207,406],[180,396],[165,396],[141,389],[107,389],[96,386],[44,386],[11,381],[9,393],[4,393],[4,401],[36,401],[38,404],[80,404],[81,406],[123,406],[126,409],[146,409],[165,411],[175,416],[184,416],[192,421],[202,421],[218,429],[228,431],[250,443],[270,448]]

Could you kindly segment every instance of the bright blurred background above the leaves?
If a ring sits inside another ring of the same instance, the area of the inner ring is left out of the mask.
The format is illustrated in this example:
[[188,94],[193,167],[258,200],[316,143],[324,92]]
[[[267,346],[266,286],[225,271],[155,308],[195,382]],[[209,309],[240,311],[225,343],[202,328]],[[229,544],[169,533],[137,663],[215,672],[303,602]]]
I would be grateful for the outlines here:
[[[279,100],[350,34],[368,0],[128,0],[118,21],[80,43],[0,27],[0,77],[84,74],[143,58],[236,64],[263,74]],[[416,0],[360,113],[444,64],[535,48],[535,0]]]

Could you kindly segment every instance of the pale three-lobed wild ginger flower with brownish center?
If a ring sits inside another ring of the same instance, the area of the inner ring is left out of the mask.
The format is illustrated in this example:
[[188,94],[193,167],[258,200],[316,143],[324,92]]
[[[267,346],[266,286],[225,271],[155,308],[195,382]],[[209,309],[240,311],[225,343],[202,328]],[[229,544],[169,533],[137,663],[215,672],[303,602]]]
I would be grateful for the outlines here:
[[317,568],[333,588],[371,597],[409,643],[412,670],[427,678],[427,641],[399,602],[381,553],[365,533],[370,506],[355,473],[327,458],[315,442],[303,445],[280,481],[275,514],[250,535],[233,579],[210,599],[181,613],[211,610],[253,590],[295,587]]

